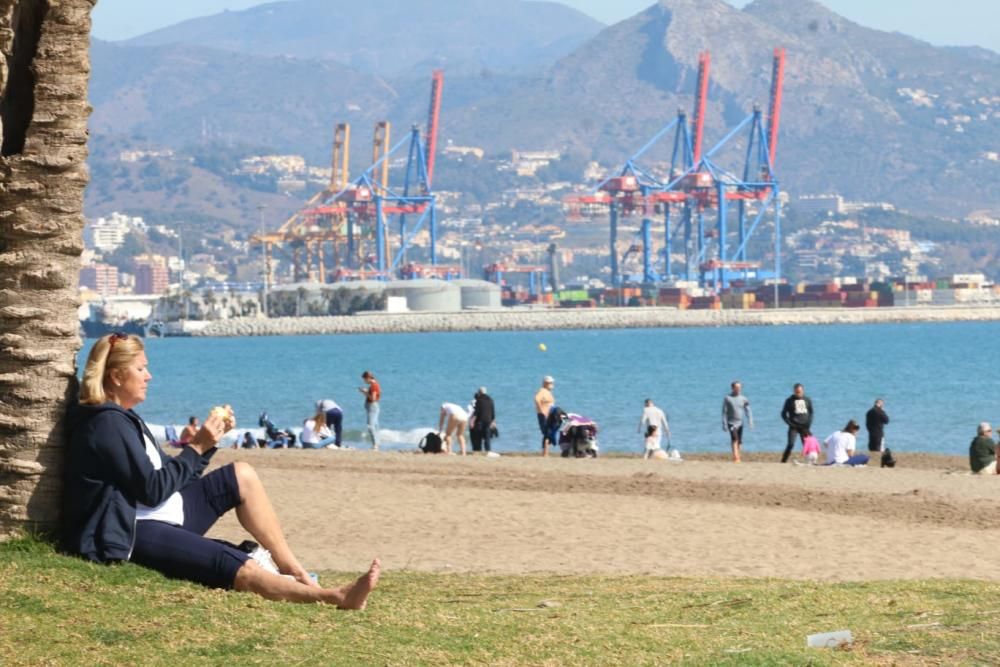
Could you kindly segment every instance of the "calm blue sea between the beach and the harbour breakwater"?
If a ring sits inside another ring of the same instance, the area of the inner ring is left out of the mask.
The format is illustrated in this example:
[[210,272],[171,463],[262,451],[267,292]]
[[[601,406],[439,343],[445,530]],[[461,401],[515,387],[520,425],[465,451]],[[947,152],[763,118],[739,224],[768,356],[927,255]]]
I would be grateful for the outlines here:
[[497,405],[495,448],[535,451],[532,396],[546,374],[560,407],[597,421],[605,451],[641,450],[647,397],[666,410],[681,451],[727,450],[720,410],[733,379],[754,411],[749,451],[782,447],[779,412],[795,382],[813,399],[821,437],[863,423],[876,397],[891,418],[887,444],[900,452],[963,454],[978,422],[1000,421],[1000,323],[173,338],[148,340],[147,351],[153,381],[137,410],[150,423],[230,403],[242,427],[262,410],[297,427],[317,399],[332,398],[357,441],[357,388],[370,369],[383,390],[383,436],[397,446],[435,427],[443,401],[464,405],[483,385]]

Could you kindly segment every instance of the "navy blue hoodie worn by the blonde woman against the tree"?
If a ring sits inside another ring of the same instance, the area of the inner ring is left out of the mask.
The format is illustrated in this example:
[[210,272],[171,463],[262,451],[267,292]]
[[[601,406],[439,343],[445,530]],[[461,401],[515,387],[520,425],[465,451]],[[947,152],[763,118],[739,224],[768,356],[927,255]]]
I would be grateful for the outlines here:
[[197,480],[209,459],[185,447],[153,468],[145,422],[115,403],[74,405],[67,414],[69,447],[63,486],[63,548],[101,563],[128,560],[135,541],[135,507],[159,505]]

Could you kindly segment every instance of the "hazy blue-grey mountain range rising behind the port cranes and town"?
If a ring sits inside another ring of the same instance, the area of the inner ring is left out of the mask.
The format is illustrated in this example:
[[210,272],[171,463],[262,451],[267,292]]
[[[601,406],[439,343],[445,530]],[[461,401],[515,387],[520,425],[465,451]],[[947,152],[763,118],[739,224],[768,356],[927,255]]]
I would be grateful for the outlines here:
[[[660,0],[603,28],[543,2],[271,3],[95,42],[92,130],[173,147],[221,138],[323,164],[335,122],[361,137],[383,118],[422,123],[430,70],[443,66],[443,140],[615,164],[691,109],[701,51],[712,54],[707,146],[766,107],[779,46],[786,189],[1000,215],[1000,55],[865,28],[813,0]],[[366,143],[355,140],[358,159]]]

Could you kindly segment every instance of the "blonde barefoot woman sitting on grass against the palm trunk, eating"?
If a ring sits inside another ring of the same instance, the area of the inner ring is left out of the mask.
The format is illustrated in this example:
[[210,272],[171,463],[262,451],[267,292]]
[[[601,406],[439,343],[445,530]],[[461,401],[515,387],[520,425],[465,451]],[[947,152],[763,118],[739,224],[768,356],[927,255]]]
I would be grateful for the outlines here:
[[[380,564],[339,588],[321,588],[299,564],[257,473],[238,461],[202,476],[225,433],[210,415],[176,457],[133,412],[152,375],[142,339],[111,334],[90,350],[80,401],[68,415],[63,546],[92,561],[132,561],[168,577],[249,591],[269,600],[363,609]],[[273,574],[239,549],[204,537],[227,511],[271,552]],[[283,576],[289,575],[289,576]]]

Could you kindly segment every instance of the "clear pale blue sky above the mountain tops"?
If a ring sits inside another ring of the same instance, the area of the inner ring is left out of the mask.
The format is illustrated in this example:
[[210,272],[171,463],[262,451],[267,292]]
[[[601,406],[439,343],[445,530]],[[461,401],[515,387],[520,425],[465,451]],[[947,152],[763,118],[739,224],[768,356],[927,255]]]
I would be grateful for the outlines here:
[[[605,23],[638,13],[654,0],[561,0]],[[748,0],[729,0],[742,7]],[[894,30],[933,44],[985,46],[1000,52],[1000,0],[821,0],[852,21]],[[224,9],[264,0],[98,0],[94,34],[117,40]]]

